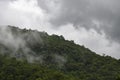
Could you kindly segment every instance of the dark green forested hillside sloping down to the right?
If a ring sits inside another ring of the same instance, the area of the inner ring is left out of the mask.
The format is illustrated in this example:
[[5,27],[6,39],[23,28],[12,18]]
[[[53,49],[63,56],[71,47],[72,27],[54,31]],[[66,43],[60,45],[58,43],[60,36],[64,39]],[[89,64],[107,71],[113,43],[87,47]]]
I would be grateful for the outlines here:
[[100,56],[63,36],[9,29],[24,45],[13,49],[1,42],[0,80],[120,80],[120,60]]

